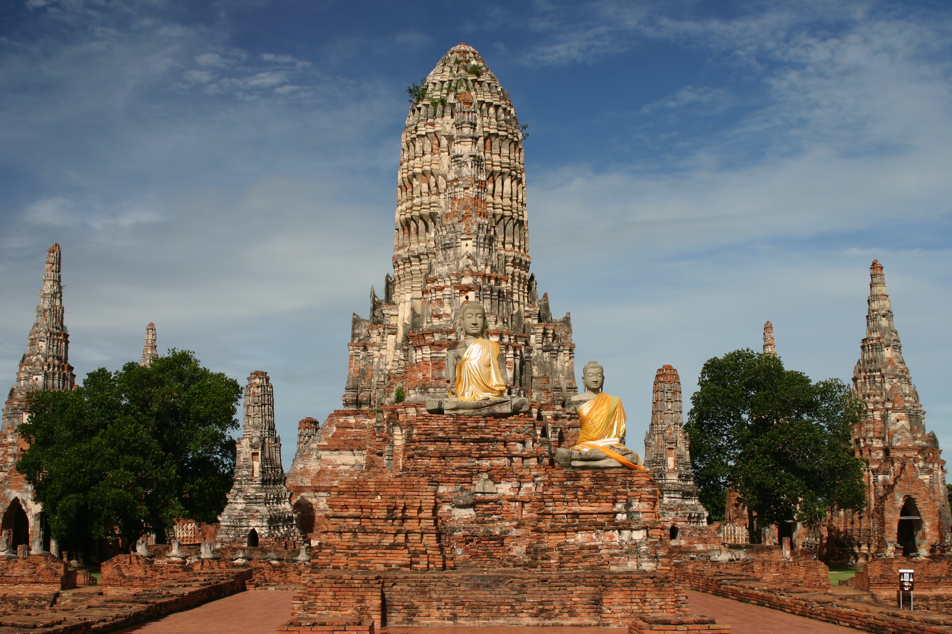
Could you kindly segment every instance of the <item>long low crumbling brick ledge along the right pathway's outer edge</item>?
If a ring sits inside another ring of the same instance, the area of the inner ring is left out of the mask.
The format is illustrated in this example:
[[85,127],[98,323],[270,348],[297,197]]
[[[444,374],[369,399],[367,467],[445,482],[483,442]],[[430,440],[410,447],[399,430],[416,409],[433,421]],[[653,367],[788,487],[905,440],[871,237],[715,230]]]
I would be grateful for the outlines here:
[[691,589],[876,634],[952,634],[952,615],[909,612],[816,590],[769,586],[704,570],[681,570]]

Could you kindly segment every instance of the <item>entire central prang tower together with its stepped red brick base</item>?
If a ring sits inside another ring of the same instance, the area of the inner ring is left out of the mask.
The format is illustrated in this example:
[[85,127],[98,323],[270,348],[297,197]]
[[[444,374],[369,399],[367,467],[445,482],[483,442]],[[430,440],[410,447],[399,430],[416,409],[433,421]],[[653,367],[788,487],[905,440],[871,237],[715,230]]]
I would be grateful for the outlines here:
[[[462,44],[424,87],[402,138],[393,277],[353,317],[344,409],[302,421],[288,471],[312,545],[295,618],[626,625],[684,611],[650,473],[554,460],[579,436],[571,320],[529,274],[508,93]],[[485,310],[505,390],[450,411],[467,302]]]

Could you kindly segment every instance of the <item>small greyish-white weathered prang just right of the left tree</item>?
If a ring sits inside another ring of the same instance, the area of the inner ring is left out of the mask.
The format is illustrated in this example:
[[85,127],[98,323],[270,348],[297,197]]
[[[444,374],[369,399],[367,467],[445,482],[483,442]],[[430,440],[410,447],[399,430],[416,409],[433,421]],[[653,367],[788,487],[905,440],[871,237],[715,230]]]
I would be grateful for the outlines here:
[[274,388],[257,370],[245,387],[245,424],[235,443],[234,484],[219,515],[221,544],[285,545],[298,539],[290,491],[281,466],[281,438],[274,432]]

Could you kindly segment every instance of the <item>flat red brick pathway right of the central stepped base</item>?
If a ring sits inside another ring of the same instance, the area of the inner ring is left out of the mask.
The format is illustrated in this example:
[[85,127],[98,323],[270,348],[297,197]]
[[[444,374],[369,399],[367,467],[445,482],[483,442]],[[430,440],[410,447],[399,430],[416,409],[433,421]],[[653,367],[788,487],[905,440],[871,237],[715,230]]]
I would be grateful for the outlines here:
[[773,634],[775,632],[777,634],[784,632],[846,634],[856,631],[849,627],[814,621],[780,610],[772,610],[769,607],[744,604],[740,601],[704,594],[704,592],[688,590],[687,600],[690,602],[691,612],[717,619],[718,623],[732,625],[733,634]]

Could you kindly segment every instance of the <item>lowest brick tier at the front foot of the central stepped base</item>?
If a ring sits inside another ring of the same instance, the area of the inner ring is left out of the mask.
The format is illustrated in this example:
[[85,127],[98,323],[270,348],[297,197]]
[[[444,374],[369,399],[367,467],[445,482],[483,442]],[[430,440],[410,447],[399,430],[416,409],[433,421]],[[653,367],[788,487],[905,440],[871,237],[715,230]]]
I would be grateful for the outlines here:
[[684,589],[662,573],[313,569],[292,621],[627,627],[637,615],[686,611]]

